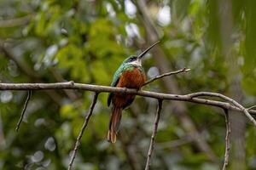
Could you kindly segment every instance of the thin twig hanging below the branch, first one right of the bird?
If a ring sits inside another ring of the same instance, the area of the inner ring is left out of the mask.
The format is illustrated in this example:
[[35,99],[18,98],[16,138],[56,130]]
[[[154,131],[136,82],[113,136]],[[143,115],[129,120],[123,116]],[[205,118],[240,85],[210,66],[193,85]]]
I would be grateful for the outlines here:
[[163,100],[159,99],[158,100],[158,107],[157,107],[157,111],[156,111],[156,116],[155,116],[155,120],[154,120],[154,130],[153,130],[153,133],[152,133],[152,136],[151,136],[150,145],[149,145],[149,149],[148,149],[148,158],[147,158],[147,163],[146,163],[145,170],[148,170],[149,167],[150,167],[150,160],[151,160],[151,156],[152,156],[152,153],[153,153],[153,150],[154,150],[154,138],[155,138],[156,133],[157,133],[158,122],[159,122],[159,119],[160,119],[160,112],[162,110],[162,103],[163,103]]

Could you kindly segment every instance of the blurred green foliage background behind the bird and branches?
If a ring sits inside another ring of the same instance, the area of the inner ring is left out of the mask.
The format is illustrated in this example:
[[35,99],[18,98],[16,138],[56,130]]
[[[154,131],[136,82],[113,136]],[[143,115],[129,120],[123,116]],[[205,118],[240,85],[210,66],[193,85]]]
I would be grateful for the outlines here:
[[[153,42],[147,78],[190,68],[144,87],[161,93],[211,91],[249,107],[256,103],[256,1],[0,0],[1,82],[109,85],[123,59]],[[0,169],[65,169],[93,93],[32,92],[19,133],[24,91],[0,92]],[[143,169],[155,99],[137,97],[124,111],[116,144],[106,140],[110,109],[100,94],[74,169]],[[152,169],[219,169],[223,111],[165,101]],[[229,169],[256,169],[256,130],[231,113]]]

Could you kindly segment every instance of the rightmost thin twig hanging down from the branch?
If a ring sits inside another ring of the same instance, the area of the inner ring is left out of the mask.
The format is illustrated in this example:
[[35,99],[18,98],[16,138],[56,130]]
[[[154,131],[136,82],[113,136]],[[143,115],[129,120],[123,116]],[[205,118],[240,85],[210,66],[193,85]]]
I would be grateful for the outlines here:
[[226,123],[226,138],[225,138],[225,155],[224,155],[224,164],[222,170],[226,170],[229,164],[229,157],[230,157],[230,116],[229,111],[224,109],[225,114],[225,123]]

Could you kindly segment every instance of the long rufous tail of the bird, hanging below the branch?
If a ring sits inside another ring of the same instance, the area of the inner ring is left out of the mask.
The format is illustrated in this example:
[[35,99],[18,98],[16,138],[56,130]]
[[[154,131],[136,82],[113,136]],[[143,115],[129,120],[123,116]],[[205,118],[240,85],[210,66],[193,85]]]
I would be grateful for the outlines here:
[[116,135],[119,132],[119,125],[122,117],[122,108],[113,106],[108,125],[108,142],[115,143]]

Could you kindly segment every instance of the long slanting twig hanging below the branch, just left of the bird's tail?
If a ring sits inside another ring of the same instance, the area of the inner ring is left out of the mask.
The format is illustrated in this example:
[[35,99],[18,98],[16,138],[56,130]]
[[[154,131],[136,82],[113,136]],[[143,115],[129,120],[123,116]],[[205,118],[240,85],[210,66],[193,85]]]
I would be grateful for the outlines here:
[[80,140],[81,140],[81,138],[82,138],[82,136],[83,136],[85,127],[87,127],[87,125],[88,125],[88,122],[89,122],[89,120],[90,120],[90,116],[92,115],[92,111],[94,110],[94,106],[96,105],[96,101],[97,101],[98,95],[99,95],[99,93],[95,93],[95,94],[94,94],[93,101],[92,101],[92,103],[91,103],[91,105],[90,105],[90,111],[88,112],[88,115],[87,115],[87,116],[85,117],[85,119],[84,119],[83,127],[82,127],[81,130],[80,130],[79,136],[78,136],[77,141],[76,141],[76,144],[75,144],[75,146],[74,146],[73,154],[72,154],[71,160],[69,161],[69,164],[68,164],[68,170],[71,170],[71,169],[72,169],[73,161],[74,161],[74,159],[75,159],[75,157],[76,157],[77,150],[79,149]]

